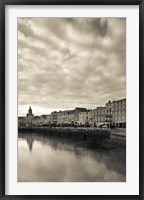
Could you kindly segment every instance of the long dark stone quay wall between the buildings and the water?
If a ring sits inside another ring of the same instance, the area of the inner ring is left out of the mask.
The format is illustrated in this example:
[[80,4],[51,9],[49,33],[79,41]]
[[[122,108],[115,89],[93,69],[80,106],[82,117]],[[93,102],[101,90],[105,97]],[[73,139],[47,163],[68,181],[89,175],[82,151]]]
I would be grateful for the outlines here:
[[97,141],[126,148],[126,134],[119,130],[67,128],[67,127],[19,127],[20,133],[38,133],[49,136],[75,138],[78,141]]

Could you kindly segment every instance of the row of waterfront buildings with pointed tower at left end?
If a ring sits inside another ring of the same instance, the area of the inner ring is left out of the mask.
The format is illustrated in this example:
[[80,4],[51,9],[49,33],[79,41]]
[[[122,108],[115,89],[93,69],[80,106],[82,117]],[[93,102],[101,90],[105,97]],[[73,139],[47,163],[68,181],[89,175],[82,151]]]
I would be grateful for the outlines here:
[[126,99],[108,101],[104,107],[96,109],[78,108],[74,110],[54,111],[50,115],[34,116],[31,107],[26,117],[18,118],[19,126],[66,126],[101,125],[126,127]]

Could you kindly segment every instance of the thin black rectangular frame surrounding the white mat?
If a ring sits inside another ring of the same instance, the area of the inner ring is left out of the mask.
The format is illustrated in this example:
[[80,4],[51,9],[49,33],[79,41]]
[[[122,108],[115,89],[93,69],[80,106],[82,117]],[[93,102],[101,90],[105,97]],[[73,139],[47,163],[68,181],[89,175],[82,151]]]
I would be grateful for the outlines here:
[[[5,7],[7,5],[138,5],[139,6],[139,195],[6,195],[6,99],[7,85],[5,84],[5,76],[7,71],[5,63],[7,54],[5,52]],[[0,198],[1,199],[143,199],[144,185],[143,185],[143,168],[144,168],[144,147],[143,147],[143,132],[144,132],[144,1],[143,0],[90,0],[90,1],[49,1],[49,0],[1,0],[0,1]]]

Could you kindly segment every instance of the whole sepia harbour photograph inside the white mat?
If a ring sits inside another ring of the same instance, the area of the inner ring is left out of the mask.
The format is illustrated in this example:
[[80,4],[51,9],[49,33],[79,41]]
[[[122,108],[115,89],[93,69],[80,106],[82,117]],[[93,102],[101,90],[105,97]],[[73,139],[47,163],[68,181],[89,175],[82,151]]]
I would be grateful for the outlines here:
[[17,18],[18,182],[126,182],[126,18]]

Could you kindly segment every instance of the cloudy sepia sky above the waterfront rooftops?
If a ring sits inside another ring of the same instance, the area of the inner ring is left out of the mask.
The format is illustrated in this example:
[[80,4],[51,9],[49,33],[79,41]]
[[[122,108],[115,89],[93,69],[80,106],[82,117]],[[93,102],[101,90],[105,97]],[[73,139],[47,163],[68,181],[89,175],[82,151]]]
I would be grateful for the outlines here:
[[125,18],[18,18],[19,116],[125,97]]

